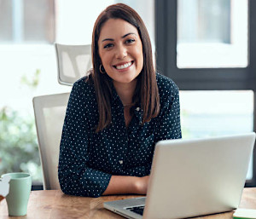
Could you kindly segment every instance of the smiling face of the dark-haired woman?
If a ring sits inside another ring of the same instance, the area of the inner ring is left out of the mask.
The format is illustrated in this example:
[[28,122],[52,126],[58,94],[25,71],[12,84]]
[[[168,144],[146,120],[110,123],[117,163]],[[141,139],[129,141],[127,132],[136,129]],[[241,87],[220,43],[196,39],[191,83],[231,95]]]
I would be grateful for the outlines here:
[[143,43],[137,28],[121,19],[109,19],[98,41],[102,65],[113,84],[136,83],[143,69]]

